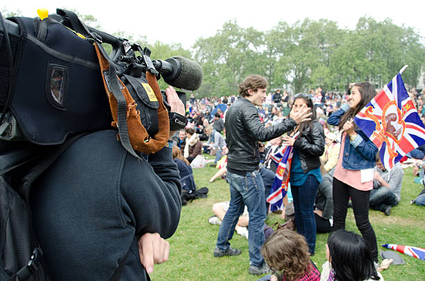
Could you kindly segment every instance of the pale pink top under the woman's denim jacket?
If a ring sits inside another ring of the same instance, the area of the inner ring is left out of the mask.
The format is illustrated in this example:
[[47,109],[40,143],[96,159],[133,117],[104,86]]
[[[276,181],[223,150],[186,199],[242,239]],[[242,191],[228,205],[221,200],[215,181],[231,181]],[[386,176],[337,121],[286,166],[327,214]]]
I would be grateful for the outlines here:
[[347,170],[342,168],[345,137],[347,137],[347,133],[342,135],[340,157],[338,158],[338,163],[336,165],[335,172],[333,173],[334,178],[337,178],[338,180],[358,190],[372,190],[374,188],[374,181],[369,180],[368,182],[361,182],[360,170]]

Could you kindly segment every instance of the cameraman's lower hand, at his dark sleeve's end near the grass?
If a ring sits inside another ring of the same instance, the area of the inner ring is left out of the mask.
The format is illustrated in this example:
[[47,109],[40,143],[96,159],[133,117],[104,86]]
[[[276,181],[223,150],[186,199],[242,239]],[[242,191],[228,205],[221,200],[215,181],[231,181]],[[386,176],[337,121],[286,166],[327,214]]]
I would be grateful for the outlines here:
[[167,262],[169,244],[158,233],[145,233],[139,238],[139,255],[148,274],[153,272],[154,264]]

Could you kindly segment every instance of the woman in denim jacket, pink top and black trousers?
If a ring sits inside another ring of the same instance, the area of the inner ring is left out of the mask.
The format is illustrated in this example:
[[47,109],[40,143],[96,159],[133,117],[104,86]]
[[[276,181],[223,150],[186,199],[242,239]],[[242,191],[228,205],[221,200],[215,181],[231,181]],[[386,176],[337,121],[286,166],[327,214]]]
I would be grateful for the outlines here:
[[378,262],[376,236],[369,222],[369,193],[373,188],[376,145],[356,126],[353,118],[376,95],[372,84],[356,83],[349,103],[328,118],[342,132],[338,164],[333,173],[333,231],[345,229],[349,198],[358,230],[365,238],[374,262]]

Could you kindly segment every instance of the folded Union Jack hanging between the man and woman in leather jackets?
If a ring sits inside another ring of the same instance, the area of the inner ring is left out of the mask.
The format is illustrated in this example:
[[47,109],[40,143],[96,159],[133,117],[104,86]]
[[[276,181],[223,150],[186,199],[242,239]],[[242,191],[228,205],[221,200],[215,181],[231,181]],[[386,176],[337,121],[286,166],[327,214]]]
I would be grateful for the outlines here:
[[[298,132],[294,137],[297,137],[297,135]],[[278,163],[278,167],[276,169],[273,185],[270,188],[270,193],[266,200],[270,203],[269,212],[283,210],[283,198],[288,193],[291,162],[292,156],[294,155],[292,150],[292,146],[285,146],[276,154],[272,155],[272,160]]]

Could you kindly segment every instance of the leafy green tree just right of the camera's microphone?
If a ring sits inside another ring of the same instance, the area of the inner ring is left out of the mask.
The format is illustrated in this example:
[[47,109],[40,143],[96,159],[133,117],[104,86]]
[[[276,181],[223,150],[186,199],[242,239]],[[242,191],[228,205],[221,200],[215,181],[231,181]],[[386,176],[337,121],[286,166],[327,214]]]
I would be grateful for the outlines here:
[[240,81],[249,74],[265,69],[260,48],[263,33],[226,22],[213,37],[194,44],[195,59],[203,67],[200,96],[230,95],[238,92]]

